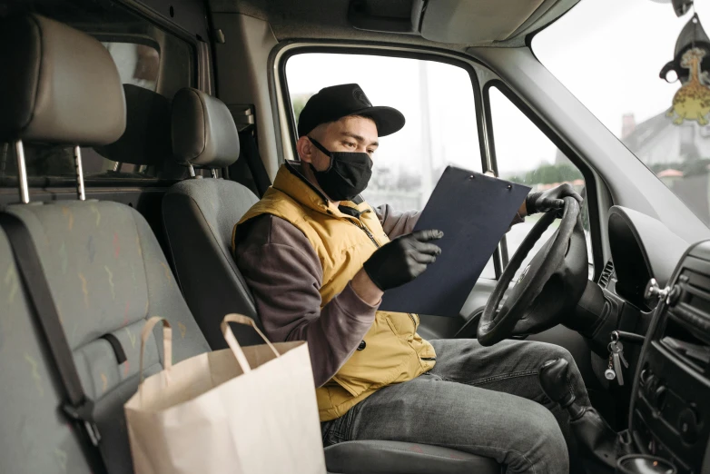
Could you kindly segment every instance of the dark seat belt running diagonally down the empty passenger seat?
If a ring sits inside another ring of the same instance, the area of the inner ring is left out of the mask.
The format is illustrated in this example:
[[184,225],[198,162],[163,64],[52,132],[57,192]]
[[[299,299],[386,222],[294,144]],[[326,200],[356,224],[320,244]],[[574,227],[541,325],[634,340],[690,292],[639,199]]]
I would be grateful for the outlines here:
[[64,387],[62,410],[74,424],[81,439],[84,456],[94,474],[106,473],[104,459],[99,449],[101,436],[94,423],[94,401],[86,398],[79,373],[74,365],[74,356],[66,341],[64,328],[54,306],[49,284],[44,276],[37,249],[25,223],[15,215],[0,213],[0,227],[3,228],[15,256],[15,263],[34,309],[37,323],[42,329],[46,347],[52,353],[59,378]]

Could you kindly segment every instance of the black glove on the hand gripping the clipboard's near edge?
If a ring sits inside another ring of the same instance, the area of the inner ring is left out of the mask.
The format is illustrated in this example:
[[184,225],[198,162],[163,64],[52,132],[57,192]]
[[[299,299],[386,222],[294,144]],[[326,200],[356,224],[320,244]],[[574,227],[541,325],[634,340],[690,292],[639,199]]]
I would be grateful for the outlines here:
[[430,229],[401,235],[384,244],[362,265],[380,290],[390,290],[414,280],[427,265],[437,260],[441,249],[429,241],[439,240],[444,232]]

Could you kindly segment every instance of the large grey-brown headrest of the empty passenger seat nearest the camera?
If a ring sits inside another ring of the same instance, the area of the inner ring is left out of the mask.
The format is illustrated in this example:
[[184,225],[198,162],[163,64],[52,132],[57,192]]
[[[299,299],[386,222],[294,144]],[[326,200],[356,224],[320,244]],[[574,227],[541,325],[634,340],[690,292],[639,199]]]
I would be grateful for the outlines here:
[[97,145],[125,128],[123,87],[93,37],[40,15],[0,20],[0,141]]

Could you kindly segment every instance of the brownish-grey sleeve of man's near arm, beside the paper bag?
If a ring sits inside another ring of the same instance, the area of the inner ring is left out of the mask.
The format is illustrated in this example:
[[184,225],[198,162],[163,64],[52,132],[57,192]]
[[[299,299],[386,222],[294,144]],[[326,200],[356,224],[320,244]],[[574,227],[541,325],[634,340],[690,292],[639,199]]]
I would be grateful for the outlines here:
[[336,374],[360,345],[377,306],[350,283],[320,307],[323,272],[311,242],[290,222],[268,214],[245,222],[235,261],[271,341],[307,341],[317,387]]

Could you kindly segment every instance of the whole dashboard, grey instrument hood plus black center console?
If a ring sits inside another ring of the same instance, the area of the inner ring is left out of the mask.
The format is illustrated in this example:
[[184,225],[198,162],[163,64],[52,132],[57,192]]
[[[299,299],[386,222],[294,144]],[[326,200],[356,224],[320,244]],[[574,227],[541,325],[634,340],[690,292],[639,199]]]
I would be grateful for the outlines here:
[[[638,309],[637,321],[622,313],[618,326],[646,334],[632,365],[634,450],[670,461],[679,474],[710,472],[710,241],[689,246],[621,207],[612,208],[608,232],[613,268],[600,285]],[[659,287],[653,302],[645,297],[651,278]]]

